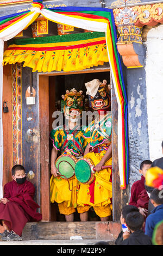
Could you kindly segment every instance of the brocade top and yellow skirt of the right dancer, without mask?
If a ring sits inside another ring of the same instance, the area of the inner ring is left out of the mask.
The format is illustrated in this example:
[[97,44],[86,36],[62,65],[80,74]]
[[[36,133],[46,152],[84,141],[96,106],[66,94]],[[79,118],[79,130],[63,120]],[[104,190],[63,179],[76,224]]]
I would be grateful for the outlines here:
[[[102,130],[97,129],[95,120],[87,127],[84,137],[91,145],[91,152],[84,157],[91,159],[93,163],[98,164],[105,155],[111,143],[111,113],[105,116],[105,125],[108,127],[107,134]],[[105,144],[105,141],[109,141]],[[110,158],[105,165],[110,166],[112,158]],[[111,169],[103,169],[96,172],[95,180],[89,184],[80,184],[77,203],[79,205],[93,206],[96,214],[99,217],[106,217],[111,215],[112,210],[112,183],[111,183]]]

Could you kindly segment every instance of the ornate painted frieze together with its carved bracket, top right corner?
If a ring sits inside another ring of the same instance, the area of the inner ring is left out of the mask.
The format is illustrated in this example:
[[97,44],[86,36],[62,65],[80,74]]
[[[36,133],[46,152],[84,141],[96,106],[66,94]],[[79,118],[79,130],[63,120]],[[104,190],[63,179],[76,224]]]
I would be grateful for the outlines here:
[[127,68],[144,65],[145,46],[142,44],[143,26],[163,23],[163,3],[136,5],[113,10],[118,30],[117,48]]

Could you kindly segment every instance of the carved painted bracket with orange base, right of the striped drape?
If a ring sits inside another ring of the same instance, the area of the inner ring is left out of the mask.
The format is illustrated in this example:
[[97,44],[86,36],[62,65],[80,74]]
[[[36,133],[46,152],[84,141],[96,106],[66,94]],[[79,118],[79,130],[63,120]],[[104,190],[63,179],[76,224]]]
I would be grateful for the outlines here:
[[115,9],[115,22],[119,37],[118,52],[127,68],[142,68],[145,60],[145,47],[142,44],[142,26],[136,26],[137,12],[132,8]]

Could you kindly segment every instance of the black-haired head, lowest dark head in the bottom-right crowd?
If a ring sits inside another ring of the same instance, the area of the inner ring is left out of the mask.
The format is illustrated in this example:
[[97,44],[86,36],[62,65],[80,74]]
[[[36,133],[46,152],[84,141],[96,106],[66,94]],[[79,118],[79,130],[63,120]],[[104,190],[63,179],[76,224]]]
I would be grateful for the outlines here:
[[143,223],[144,217],[142,214],[140,214],[140,212],[133,211],[126,216],[126,224],[131,232],[142,229]]

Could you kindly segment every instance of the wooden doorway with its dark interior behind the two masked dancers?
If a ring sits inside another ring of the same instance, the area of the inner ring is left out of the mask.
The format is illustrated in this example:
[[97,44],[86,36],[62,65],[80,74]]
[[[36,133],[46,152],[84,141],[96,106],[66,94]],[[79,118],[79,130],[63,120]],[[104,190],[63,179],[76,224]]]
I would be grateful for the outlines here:
[[[65,94],[66,89],[83,89],[84,83],[95,78],[106,79],[111,83],[110,68],[96,68],[74,72],[51,72],[39,74],[39,108],[40,108],[40,170],[41,170],[41,212],[43,221],[65,221],[64,216],[57,216],[57,204],[50,204],[49,179],[50,174],[50,155],[51,143],[49,142],[49,131],[52,130],[52,114],[56,110],[56,102],[61,100],[61,94]],[[78,77],[78,79],[77,79]],[[82,81],[83,88],[77,88],[77,83]],[[65,82],[68,81],[68,82]],[[72,81],[72,84],[71,84]],[[70,88],[72,85],[72,88]],[[118,173],[117,157],[117,118],[118,108],[114,92],[111,89],[111,111],[112,111],[112,190],[113,190],[113,221],[120,221],[121,216],[121,190],[120,176]],[[74,221],[79,221],[78,216],[74,216]]]

